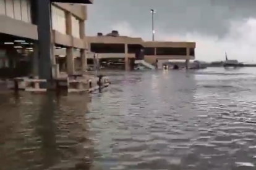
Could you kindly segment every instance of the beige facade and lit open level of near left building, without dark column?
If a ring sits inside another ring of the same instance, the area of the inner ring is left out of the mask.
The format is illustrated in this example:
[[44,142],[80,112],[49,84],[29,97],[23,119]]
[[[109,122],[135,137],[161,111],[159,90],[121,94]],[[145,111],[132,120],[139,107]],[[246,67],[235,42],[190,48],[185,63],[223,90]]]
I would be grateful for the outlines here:
[[[10,54],[29,55],[34,59],[38,55],[37,9],[35,0],[0,0],[0,68],[15,67],[9,64],[13,63],[9,61]],[[85,38],[86,20],[87,6],[51,2],[51,42],[56,57],[53,67],[59,68],[59,62],[65,60],[64,70],[72,74],[76,69],[75,60],[79,60],[78,67],[85,70],[88,48]],[[38,70],[33,70],[36,75]]]

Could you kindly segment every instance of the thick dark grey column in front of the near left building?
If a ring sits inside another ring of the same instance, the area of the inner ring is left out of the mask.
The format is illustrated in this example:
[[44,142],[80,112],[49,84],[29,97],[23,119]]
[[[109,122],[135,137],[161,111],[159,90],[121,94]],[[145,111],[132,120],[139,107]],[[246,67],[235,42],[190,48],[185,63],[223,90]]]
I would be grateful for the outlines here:
[[37,2],[38,75],[41,79],[52,79],[51,2],[49,0],[37,0]]

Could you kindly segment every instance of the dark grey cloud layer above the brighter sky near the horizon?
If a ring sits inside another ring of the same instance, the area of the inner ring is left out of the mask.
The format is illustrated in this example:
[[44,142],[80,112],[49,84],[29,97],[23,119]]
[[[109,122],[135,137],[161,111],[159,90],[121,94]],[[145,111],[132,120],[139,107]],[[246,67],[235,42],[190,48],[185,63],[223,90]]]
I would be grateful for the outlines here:
[[254,17],[255,0],[95,0],[88,7],[87,33],[109,31],[117,22],[127,21],[139,31],[150,29],[150,9],[156,9],[156,30],[223,36],[230,20]]

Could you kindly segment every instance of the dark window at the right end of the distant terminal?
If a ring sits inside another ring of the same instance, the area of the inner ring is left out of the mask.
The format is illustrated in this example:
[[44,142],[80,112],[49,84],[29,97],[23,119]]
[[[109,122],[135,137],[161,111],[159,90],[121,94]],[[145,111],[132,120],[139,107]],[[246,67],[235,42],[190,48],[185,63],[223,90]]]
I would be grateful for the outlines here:
[[158,47],[156,55],[187,55],[186,48]]

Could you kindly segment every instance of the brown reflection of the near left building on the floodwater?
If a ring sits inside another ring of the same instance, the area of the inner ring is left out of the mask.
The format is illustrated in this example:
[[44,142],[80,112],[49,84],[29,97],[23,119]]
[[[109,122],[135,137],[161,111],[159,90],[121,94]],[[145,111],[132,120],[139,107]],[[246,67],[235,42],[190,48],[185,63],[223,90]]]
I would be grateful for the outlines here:
[[88,169],[88,96],[1,96],[0,169]]

